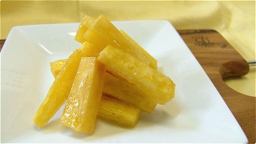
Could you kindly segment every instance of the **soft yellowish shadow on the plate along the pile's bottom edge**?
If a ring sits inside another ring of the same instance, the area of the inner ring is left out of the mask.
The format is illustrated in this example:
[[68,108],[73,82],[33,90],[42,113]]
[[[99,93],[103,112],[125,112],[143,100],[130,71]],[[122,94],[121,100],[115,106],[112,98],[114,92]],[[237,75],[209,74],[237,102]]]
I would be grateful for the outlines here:
[[[173,101],[168,102],[165,105],[158,105],[157,108],[153,111],[152,114],[147,114],[141,112],[140,120],[134,128],[120,125],[109,119],[103,117],[97,117],[96,128],[92,136],[76,132],[67,126],[62,125],[58,119],[49,121],[44,128],[40,129],[36,126],[37,131],[44,132],[44,134],[53,134],[53,133],[62,133],[68,137],[75,139],[88,139],[89,141],[97,138],[107,138],[117,135],[122,135],[123,133],[133,132],[133,130],[140,130],[140,128],[153,128],[154,126],[167,126],[166,123],[169,123],[175,119],[182,112],[182,106],[179,101],[173,99]],[[169,122],[168,122],[169,121]]]

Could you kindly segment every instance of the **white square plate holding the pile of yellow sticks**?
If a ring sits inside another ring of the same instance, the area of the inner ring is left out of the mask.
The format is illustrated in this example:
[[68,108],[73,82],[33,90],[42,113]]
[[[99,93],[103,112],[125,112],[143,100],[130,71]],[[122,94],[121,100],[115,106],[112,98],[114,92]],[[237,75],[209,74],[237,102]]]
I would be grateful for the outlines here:
[[[175,98],[142,114],[135,128],[101,119],[94,135],[58,123],[42,129],[33,116],[54,78],[49,62],[67,58],[79,43],[78,23],[14,27],[1,51],[2,143],[246,143],[244,132],[196,58],[168,21],[114,22],[159,61],[176,84]],[[63,107],[62,107],[63,108]]]

